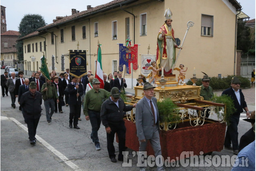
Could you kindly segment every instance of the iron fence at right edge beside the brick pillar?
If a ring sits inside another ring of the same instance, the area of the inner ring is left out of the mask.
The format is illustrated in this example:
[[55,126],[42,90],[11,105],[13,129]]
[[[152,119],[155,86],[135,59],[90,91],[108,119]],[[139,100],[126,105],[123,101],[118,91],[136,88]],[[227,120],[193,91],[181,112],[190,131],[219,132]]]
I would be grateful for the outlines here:
[[251,78],[255,68],[255,56],[241,56],[241,76]]

